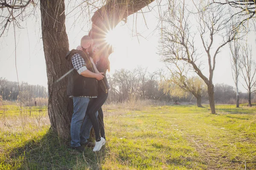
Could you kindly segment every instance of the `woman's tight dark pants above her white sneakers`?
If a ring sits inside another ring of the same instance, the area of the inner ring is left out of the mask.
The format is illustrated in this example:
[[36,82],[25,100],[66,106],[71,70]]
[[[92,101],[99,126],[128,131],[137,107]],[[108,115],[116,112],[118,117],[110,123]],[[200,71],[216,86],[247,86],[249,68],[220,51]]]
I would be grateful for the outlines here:
[[[108,93],[102,90],[102,88],[98,88],[98,96],[97,98],[93,98],[90,100],[87,111],[85,115],[90,117],[90,120],[93,124],[93,129],[95,133],[95,140],[100,141],[100,137],[105,138],[105,130],[104,130],[104,122],[103,122],[103,111],[102,105],[108,98]],[[99,115],[96,116],[96,112],[98,111]],[[84,129],[85,124],[83,124],[82,129]],[[101,136],[100,136],[101,134]]]

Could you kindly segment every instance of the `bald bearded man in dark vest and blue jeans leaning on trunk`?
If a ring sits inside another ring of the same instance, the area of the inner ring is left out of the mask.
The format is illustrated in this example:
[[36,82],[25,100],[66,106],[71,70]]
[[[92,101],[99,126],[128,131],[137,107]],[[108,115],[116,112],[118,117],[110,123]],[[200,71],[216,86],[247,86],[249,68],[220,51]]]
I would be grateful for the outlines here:
[[[83,51],[72,50],[66,59],[70,62],[70,74],[68,77],[67,96],[73,98],[74,113],[71,120],[71,147],[80,152],[80,131],[84,121],[85,112],[90,99],[98,95],[97,80],[103,79],[103,73],[94,73],[93,64],[89,54],[92,54],[93,39],[84,36],[81,39]],[[100,148],[99,148],[100,149]]]

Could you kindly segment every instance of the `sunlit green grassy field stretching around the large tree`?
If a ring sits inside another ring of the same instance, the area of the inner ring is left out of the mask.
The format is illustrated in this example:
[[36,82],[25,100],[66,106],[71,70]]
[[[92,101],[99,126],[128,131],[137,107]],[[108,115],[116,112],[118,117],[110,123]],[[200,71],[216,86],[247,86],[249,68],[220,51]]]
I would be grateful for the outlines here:
[[70,149],[50,130],[46,107],[0,108],[3,170],[256,170],[256,107],[105,105],[107,144]]

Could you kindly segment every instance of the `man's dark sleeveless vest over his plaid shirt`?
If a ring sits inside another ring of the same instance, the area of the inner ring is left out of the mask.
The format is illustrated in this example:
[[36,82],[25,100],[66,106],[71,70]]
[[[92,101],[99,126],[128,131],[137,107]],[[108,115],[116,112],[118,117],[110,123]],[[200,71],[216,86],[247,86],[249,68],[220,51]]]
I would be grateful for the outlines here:
[[86,68],[94,72],[93,64],[84,51],[71,50],[67,53],[66,59],[70,62],[70,73],[68,74],[67,96],[98,96],[98,82],[96,78],[84,77],[80,75],[72,64],[72,56],[78,53],[85,61]]

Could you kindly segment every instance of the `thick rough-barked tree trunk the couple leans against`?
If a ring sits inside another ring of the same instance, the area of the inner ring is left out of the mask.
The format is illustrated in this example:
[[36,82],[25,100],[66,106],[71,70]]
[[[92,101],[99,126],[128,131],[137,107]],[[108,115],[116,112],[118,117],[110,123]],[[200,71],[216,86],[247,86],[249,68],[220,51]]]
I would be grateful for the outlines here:
[[48,78],[48,114],[51,130],[61,138],[70,136],[73,103],[66,96],[67,78],[57,82],[67,73],[65,59],[69,51],[65,27],[64,0],[40,0],[42,37]]

